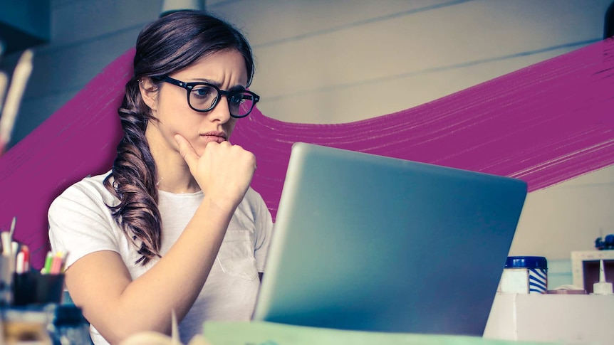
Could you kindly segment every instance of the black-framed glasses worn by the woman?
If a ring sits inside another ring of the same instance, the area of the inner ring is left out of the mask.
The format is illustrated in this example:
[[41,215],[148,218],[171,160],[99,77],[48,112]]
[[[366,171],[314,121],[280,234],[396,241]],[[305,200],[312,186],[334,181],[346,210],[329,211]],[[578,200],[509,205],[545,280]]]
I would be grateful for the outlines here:
[[254,109],[256,102],[260,100],[259,95],[247,90],[224,91],[219,90],[219,87],[209,83],[184,83],[181,80],[170,78],[168,75],[157,79],[183,87],[187,91],[187,104],[197,112],[209,112],[213,110],[221,96],[226,96],[230,116],[240,119],[241,117],[249,115],[251,110]]

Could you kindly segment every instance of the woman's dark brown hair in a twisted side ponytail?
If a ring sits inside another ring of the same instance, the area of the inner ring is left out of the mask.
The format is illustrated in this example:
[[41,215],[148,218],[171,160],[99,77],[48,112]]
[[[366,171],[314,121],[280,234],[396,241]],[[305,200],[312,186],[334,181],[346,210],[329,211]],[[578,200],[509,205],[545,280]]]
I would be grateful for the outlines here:
[[[135,263],[147,264],[159,255],[162,220],[157,208],[157,171],[145,138],[155,120],[139,90],[141,78],[160,78],[187,68],[219,51],[239,51],[245,59],[248,85],[254,75],[254,58],[246,38],[231,24],[205,11],[175,11],[143,28],[136,44],[134,75],[126,84],[118,110],[124,136],[118,156],[104,184],[119,199],[110,208],[113,218],[135,243],[142,243]],[[246,85],[247,86],[247,85]]]

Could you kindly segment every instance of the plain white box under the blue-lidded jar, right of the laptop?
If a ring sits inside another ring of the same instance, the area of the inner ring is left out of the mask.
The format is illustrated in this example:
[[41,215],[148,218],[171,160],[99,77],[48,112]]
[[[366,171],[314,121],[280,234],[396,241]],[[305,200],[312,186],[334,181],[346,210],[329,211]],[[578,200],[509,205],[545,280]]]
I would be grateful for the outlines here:
[[484,338],[614,344],[614,295],[496,294]]

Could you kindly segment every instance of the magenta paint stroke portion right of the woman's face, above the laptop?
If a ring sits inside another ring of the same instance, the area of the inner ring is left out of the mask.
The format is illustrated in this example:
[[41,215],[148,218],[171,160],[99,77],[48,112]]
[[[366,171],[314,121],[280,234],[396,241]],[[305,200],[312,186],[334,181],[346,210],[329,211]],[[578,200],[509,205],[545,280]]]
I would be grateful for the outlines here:
[[546,60],[395,114],[293,124],[257,112],[233,142],[275,214],[291,144],[311,142],[523,179],[529,191],[614,164],[614,41]]

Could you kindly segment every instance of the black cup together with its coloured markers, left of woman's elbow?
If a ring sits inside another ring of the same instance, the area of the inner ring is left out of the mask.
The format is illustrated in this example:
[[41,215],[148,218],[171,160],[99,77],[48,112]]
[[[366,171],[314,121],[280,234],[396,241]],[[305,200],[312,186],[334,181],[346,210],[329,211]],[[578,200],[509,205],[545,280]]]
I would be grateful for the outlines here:
[[49,252],[42,270],[16,271],[13,275],[13,305],[60,304],[64,291],[65,259],[63,253]]

